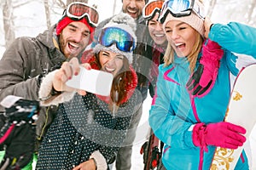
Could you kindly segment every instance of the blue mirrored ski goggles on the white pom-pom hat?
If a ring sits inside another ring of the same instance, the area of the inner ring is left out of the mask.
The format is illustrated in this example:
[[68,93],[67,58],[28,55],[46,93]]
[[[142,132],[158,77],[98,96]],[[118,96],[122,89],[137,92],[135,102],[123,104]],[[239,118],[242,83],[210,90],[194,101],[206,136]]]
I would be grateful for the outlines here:
[[123,52],[131,52],[136,47],[136,40],[131,34],[119,27],[103,28],[99,36],[99,43],[105,47],[110,47],[113,43]]

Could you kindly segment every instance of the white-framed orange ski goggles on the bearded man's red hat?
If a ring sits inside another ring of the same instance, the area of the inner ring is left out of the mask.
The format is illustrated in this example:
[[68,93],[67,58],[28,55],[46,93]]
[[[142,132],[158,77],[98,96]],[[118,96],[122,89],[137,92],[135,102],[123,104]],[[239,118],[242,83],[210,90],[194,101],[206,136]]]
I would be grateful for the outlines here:
[[90,25],[97,26],[99,21],[99,14],[96,11],[96,8],[90,7],[86,3],[70,3],[67,6],[67,9],[64,11],[64,15],[67,15],[73,20],[81,20],[85,16],[89,20]]

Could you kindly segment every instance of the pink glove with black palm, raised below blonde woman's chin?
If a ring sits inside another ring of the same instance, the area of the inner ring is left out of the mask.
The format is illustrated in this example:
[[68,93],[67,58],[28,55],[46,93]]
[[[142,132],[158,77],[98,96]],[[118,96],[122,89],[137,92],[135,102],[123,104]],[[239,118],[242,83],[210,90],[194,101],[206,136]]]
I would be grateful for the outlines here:
[[208,94],[218,75],[219,61],[224,54],[217,42],[208,39],[207,45],[202,47],[200,65],[192,74],[186,86],[190,94],[203,97]]

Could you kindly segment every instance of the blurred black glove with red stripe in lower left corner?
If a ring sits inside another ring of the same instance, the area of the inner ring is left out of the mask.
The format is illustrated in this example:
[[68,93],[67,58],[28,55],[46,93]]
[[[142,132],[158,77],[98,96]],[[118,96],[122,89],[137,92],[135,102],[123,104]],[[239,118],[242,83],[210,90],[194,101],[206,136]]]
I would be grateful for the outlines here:
[[19,99],[15,105],[5,108],[6,122],[0,130],[0,145],[5,147],[1,169],[26,167],[35,149],[38,101]]

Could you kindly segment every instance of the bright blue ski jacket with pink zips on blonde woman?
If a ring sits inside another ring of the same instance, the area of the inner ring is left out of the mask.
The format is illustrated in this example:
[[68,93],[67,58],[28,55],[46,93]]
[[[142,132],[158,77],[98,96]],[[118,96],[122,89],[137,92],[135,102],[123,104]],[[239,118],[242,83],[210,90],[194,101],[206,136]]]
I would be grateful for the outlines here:
[[[193,127],[197,122],[208,124],[224,121],[230,100],[230,74],[237,76],[242,65],[249,64],[247,56],[241,57],[231,52],[256,58],[256,30],[253,27],[235,22],[228,25],[215,24],[209,38],[224,49],[218,77],[209,94],[201,98],[189,96],[186,82],[191,72],[187,58],[176,56],[171,65],[159,66],[156,94],[149,111],[149,125],[165,143],[162,161],[167,170],[195,170],[201,166],[205,170],[211,167],[216,147],[208,145],[206,151],[195,146],[192,141]],[[200,58],[201,54],[198,60]],[[240,61],[243,64],[239,64]],[[236,169],[248,169],[244,151]]]

